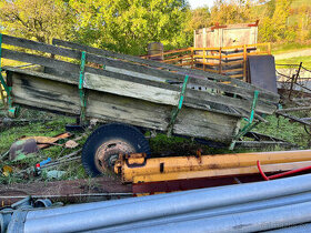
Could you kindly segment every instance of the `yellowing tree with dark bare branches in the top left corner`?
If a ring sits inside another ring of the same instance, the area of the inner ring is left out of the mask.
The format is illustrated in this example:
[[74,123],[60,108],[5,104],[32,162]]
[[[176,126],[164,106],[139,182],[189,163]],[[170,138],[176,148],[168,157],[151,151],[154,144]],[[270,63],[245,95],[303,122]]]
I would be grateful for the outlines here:
[[61,0],[0,0],[2,31],[11,36],[49,43],[68,39],[72,14]]

